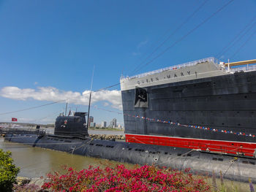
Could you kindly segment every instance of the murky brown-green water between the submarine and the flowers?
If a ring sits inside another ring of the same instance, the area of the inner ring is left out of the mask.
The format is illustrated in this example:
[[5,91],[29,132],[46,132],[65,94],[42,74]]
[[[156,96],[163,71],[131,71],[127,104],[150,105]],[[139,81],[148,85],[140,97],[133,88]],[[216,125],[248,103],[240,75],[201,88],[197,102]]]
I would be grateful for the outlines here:
[[[119,164],[116,161],[89,158],[19,143],[4,142],[4,138],[0,138],[0,148],[12,152],[14,164],[20,167],[18,176],[21,177],[44,177],[45,174],[53,172],[53,170],[60,171],[63,165],[72,166],[80,170],[87,169],[89,165],[104,168],[105,166]],[[132,164],[125,165],[128,167],[133,166]]]

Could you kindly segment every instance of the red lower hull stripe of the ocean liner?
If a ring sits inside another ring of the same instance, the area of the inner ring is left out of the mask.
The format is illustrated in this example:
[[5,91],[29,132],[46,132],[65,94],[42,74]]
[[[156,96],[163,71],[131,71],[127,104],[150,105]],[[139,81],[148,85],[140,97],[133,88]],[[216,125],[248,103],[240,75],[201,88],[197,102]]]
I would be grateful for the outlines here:
[[181,137],[161,137],[143,134],[125,134],[125,137],[126,142],[181,147],[236,155],[253,156],[256,149],[256,143],[253,142],[232,142]]

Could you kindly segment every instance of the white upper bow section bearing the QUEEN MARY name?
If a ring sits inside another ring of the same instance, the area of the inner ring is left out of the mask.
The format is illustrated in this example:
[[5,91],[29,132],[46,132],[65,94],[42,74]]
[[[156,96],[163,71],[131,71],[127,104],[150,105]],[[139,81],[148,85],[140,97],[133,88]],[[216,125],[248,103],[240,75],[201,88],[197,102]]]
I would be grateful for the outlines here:
[[121,77],[121,91],[134,89],[135,87],[148,87],[153,85],[162,85],[170,82],[181,82],[187,80],[215,77],[234,72],[255,71],[256,66],[246,66],[242,68],[226,69],[222,62],[219,63],[216,58],[203,58],[186,64],[170,66],[164,69],[158,69],[153,72],[146,72],[132,77]]

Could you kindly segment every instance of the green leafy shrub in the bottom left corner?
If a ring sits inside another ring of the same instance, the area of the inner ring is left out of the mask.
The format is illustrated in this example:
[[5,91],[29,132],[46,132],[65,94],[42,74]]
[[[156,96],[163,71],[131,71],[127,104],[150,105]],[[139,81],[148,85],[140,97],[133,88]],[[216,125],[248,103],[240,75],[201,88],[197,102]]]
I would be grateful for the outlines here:
[[0,149],[0,191],[12,191],[12,185],[20,170],[12,164],[11,155],[10,151],[4,152]]

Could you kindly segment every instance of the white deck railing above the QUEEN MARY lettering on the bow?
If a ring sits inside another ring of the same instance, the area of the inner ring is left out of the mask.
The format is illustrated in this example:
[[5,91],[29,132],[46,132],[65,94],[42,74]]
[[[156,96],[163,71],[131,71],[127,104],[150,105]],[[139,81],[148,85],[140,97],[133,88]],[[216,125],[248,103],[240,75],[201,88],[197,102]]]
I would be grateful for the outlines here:
[[187,62],[185,64],[179,64],[179,65],[175,65],[175,66],[168,66],[168,67],[165,67],[165,68],[162,68],[162,69],[154,70],[152,72],[146,72],[146,73],[143,73],[143,74],[137,74],[137,75],[134,75],[132,77],[129,77],[129,76],[124,77],[124,76],[122,76],[121,80],[124,80],[124,79],[131,80],[131,79],[135,79],[135,78],[145,77],[145,76],[148,76],[148,75],[151,75],[151,74],[157,74],[157,73],[161,73],[161,72],[165,72],[165,71],[181,69],[181,68],[188,67],[188,66],[195,66],[196,64],[205,63],[205,62],[213,62],[216,65],[219,64],[219,61],[217,60],[217,58],[214,58],[214,57],[202,58],[200,60],[190,61],[190,62]]

